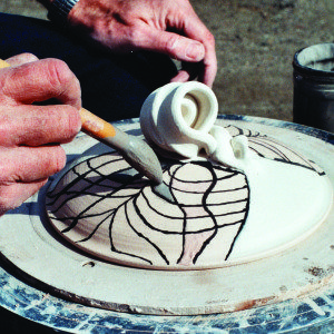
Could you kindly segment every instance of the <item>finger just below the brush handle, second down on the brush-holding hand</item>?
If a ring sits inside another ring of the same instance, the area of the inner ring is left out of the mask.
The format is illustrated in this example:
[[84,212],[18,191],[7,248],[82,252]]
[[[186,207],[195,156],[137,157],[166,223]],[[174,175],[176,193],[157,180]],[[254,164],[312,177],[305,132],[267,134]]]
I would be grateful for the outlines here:
[[71,106],[17,106],[0,114],[3,147],[69,143],[81,128],[79,111]]

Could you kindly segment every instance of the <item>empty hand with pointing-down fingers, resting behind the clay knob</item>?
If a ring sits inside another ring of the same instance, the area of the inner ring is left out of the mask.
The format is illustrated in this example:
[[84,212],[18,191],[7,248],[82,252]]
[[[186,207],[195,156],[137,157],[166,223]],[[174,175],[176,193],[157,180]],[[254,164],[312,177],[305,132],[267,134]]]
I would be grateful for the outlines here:
[[149,50],[183,61],[173,81],[214,82],[215,39],[188,0],[80,0],[69,23],[112,51]]

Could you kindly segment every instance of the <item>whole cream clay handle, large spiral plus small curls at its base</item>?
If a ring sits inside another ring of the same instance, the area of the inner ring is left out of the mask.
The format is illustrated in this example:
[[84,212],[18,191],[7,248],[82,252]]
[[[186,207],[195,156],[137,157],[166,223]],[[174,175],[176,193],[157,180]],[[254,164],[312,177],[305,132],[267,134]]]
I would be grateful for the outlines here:
[[215,126],[217,115],[218,102],[210,88],[196,81],[175,82],[147,98],[140,126],[145,138],[163,149],[163,155],[177,154],[189,159],[205,156],[243,169],[247,138],[233,138],[226,129]]

